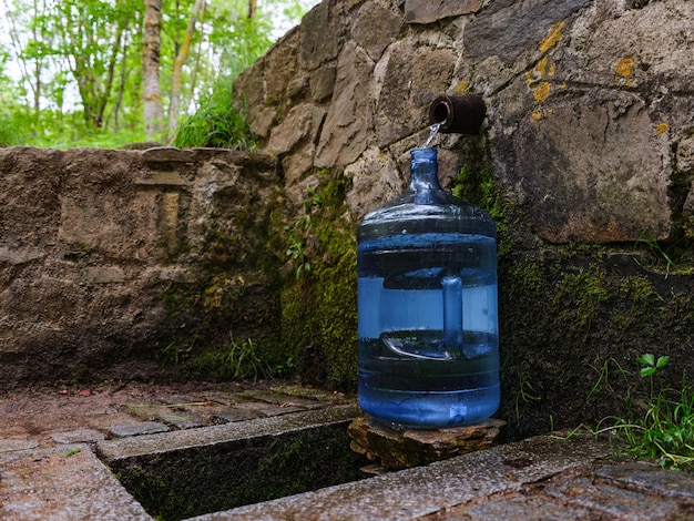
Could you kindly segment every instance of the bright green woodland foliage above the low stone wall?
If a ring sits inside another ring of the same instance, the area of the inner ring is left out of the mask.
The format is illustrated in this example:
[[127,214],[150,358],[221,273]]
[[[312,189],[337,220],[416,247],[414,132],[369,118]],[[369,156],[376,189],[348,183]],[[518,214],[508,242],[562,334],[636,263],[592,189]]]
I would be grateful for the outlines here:
[[[160,83],[165,112],[193,3],[162,2]],[[0,145],[116,147],[144,141],[141,0],[7,0],[6,7],[0,21],[8,42],[4,49],[0,42]],[[176,96],[184,125],[180,143],[253,145],[243,111],[232,109],[231,83],[272,44],[271,21],[277,10],[286,10],[292,23],[308,7],[273,0],[249,19],[244,0],[206,3]],[[11,79],[3,73],[10,69]]]

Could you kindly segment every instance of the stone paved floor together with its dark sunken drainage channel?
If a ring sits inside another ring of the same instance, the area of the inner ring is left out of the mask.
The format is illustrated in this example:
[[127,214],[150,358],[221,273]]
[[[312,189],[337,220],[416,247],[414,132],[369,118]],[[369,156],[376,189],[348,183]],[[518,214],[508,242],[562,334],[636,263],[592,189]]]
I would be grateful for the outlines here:
[[165,422],[112,427],[120,438],[75,425],[52,446],[0,440],[0,519],[694,519],[692,474],[608,459],[614,448],[591,437],[538,437],[365,478],[348,448],[356,405],[285,391],[235,398],[245,412],[223,425],[191,419],[195,407],[220,409],[202,397],[131,405]]

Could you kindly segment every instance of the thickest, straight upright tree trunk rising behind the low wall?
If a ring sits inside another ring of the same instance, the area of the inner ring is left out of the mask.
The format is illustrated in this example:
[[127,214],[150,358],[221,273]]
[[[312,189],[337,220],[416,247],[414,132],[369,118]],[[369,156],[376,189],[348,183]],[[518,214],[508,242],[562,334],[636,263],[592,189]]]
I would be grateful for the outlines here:
[[161,135],[164,109],[160,83],[162,0],[144,0],[144,129],[147,140]]

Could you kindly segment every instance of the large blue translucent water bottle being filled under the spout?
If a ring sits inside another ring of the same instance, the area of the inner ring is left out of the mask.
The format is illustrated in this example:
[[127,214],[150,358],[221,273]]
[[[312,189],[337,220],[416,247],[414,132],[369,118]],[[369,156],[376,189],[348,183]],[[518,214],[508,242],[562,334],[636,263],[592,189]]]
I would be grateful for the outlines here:
[[499,407],[497,227],[445,192],[436,149],[409,191],[358,229],[361,409],[400,426],[481,421]]

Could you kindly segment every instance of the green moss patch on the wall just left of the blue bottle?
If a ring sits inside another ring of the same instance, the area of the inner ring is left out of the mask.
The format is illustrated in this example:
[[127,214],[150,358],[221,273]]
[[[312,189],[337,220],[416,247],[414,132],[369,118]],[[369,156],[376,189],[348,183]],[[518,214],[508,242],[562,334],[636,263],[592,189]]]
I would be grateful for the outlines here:
[[[296,227],[312,270],[282,290],[282,335],[305,381],[351,390],[357,375],[355,224],[343,221],[345,181],[323,172],[309,225]],[[294,273],[295,269],[292,270]]]

